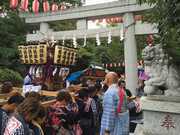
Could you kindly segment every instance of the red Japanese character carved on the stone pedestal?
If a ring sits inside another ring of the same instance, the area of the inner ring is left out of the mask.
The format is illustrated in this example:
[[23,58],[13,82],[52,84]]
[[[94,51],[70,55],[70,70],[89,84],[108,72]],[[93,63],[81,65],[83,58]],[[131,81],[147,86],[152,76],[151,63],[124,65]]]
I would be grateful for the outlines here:
[[167,130],[169,130],[170,128],[175,128],[172,117],[169,114],[164,117],[161,127],[165,127]]

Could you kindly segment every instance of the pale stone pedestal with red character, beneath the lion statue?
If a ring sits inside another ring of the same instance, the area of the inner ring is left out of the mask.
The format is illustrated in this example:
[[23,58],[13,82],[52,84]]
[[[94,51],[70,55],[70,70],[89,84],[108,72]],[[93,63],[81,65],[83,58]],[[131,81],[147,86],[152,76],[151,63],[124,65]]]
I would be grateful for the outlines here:
[[144,124],[135,135],[180,135],[180,97],[149,96],[142,98]]

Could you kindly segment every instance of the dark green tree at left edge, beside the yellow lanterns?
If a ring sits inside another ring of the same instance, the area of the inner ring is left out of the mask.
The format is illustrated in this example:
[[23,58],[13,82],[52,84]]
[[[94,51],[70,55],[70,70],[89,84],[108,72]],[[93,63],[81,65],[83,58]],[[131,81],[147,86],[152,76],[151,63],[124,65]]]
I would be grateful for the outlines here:
[[0,66],[19,70],[17,45],[25,42],[27,26],[16,12],[5,13],[0,17]]

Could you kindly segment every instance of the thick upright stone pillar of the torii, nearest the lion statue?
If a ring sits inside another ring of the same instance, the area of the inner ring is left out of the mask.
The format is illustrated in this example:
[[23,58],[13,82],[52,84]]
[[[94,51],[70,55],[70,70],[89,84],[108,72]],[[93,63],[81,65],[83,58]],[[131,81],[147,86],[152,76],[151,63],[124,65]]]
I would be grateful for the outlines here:
[[132,94],[136,95],[138,87],[137,75],[137,48],[135,39],[135,24],[133,13],[125,13],[123,16],[125,39],[124,39],[124,57],[125,57],[125,76],[126,88]]

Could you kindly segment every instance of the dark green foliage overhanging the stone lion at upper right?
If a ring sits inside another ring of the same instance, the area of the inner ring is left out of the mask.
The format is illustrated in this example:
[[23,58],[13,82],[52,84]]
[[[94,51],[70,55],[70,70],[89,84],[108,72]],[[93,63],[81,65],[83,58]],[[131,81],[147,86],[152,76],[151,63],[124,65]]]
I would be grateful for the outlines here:
[[147,20],[158,24],[159,41],[164,50],[180,63],[180,1],[179,0],[138,0],[154,8],[148,12]]

